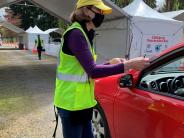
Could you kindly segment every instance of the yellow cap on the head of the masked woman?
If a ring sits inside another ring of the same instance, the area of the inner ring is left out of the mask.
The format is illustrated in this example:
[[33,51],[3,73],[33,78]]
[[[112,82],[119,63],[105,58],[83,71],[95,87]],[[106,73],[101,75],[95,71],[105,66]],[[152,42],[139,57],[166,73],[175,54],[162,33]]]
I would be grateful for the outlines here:
[[103,14],[110,14],[112,12],[112,8],[105,5],[102,0],[78,0],[77,9],[89,5],[93,5],[98,9],[102,10]]

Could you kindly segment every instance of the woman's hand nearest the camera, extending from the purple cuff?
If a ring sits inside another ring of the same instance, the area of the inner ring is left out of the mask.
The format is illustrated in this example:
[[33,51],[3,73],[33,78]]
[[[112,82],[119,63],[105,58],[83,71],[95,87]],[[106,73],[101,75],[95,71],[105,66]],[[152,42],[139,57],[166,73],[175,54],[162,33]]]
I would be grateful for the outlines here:
[[135,69],[135,70],[142,70],[146,66],[150,64],[149,58],[143,58],[143,57],[138,57],[138,58],[133,58],[127,61],[124,61],[124,69],[125,72],[127,72],[129,69]]

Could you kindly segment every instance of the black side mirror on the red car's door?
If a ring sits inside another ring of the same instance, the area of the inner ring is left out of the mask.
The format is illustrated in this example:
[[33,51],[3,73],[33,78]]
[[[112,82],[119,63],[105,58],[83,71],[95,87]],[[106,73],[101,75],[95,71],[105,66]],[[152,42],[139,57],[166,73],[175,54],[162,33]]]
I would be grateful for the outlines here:
[[131,74],[124,75],[120,78],[119,81],[120,87],[132,87],[133,86],[133,77]]

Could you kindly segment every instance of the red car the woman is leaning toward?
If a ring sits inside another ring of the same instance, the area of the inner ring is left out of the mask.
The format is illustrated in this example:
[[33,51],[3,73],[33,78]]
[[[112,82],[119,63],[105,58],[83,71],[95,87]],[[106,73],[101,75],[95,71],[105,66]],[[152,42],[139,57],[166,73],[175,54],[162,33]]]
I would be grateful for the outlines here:
[[95,138],[184,138],[184,43],[142,71],[96,80]]

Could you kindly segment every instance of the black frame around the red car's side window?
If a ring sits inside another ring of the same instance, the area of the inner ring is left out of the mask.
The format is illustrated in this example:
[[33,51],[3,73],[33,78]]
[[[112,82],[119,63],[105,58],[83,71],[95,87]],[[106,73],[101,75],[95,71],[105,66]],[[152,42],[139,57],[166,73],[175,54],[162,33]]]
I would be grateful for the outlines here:
[[[175,49],[175,50],[167,53],[166,55],[162,55],[161,57],[155,58],[154,60],[152,60],[150,66],[148,66],[147,68],[145,68],[144,70],[142,70],[140,72],[140,75],[139,75],[137,83],[135,84],[135,87],[137,89],[144,90],[146,92],[171,97],[174,99],[184,100],[184,97],[181,97],[181,96],[177,96],[177,95],[170,94],[170,93],[158,92],[158,91],[154,91],[154,90],[148,91],[146,88],[140,87],[140,82],[141,82],[143,77],[148,75],[151,71],[154,71],[160,67],[163,67],[164,65],[167,65],[169,62],[176,61],[178,58],[181,57],[181,54],[183,54],[183,53],[184,53],[184,44],[183,44],[183,47]],[[170,59],[172,59],[172,60],[170,60]]]

